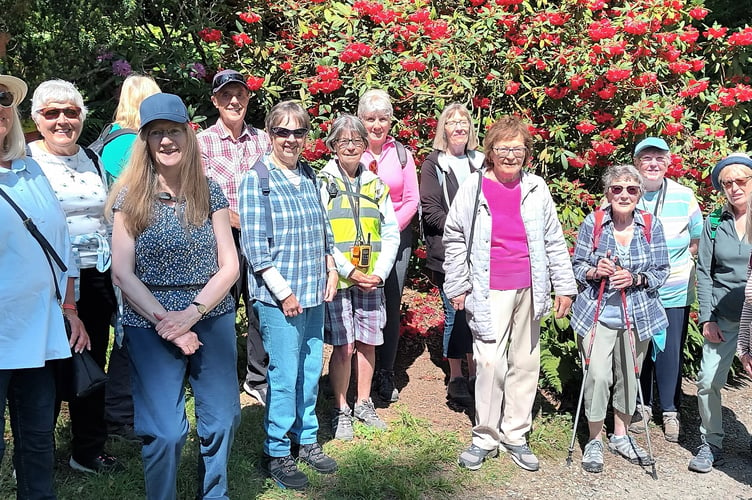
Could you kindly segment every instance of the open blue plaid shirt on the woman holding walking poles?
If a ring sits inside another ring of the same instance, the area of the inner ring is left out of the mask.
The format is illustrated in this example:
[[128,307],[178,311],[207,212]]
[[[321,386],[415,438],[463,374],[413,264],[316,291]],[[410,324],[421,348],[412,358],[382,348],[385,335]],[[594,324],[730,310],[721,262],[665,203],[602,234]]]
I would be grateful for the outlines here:
[[[600,281],[588,280],[585,275],[588,270],[598,265],[598,261],[605,257],[608,250],[611,250],[611,255],[616,255],[611,208],[607,207],[605,212],[598,248],[593,251],[595,215],[591,213],[580,226],[574,249],[572,268],[580,284],[580,293],[572,306],[571,325],[575,333],[581,337],[587,335],[593,327],[600,286]],[[639,212],[634,214],[634,225],[634,236],[629,245],[629,262],[621,262],[620,265],[633,273],[643,273],[647,277],[647,288],[626,290],[631,326],[637,330],[640,340],[646,340],[668,326],[666,312],[658,295],[658,290],[669,275],[668,250],[663,226],[657,217],[653,217],[649,243],[643,231],[645,220]],[[615,293],[620,292],[606,286],[601,308],[608,297]]]

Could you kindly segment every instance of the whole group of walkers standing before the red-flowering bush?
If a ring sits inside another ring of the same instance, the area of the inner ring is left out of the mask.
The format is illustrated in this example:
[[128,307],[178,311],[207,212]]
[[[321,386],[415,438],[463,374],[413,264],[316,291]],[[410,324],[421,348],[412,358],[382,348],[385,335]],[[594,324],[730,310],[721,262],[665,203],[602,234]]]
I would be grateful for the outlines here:
[[[129,77],[101,156],[78,145],[86,106],[60,80],[34,92],[41,139],[26,146],[18,114],[26,93],[22,80],[0,75],[0,190],[46,240],[0,200],[0,262],[13,283],[0,287],[13,304],[0,336],[0,413],[7,401],[20,498],[54,498],[52,435],[66,397],[71,467],[117,470],[104,450],[108,433],[136,439],[147,497],[175,498],[189,431],[186,378],[200,437],[197,496],[227,498],[240,422],[241,305],[249,320],[241,385],[265,408],[263,469],[293,489],[308,484],[299,462],[335,472],[315,413],[323,346],[333,346],[334,438],[353,439],[354,420],[386,429],[371,394],[399,398],[401,294],[419,204],[426,267],[444,304],[447,397],[475,407],[460,466],[476,470],[501,450],[538,470],[527,434],[540,322],[570,310],[585,362],[583,468],[603,470],[609,399],[608,447],[651,463],[629,431],[644,432],[656,407],[666,439],[678,439],[695,261],[706,341],[697,382],[702,444],[689,468],[707,472],[722,458],[720,389],[737,351],[752,374],[748,156],[713,169],[727,203],[703,223],[692,190],[665,178],[666,142],[643,140],[634,165],[606,170],[602,206],[583,222],[570,259],[546,182],[526,169],[533,137],[516,117],[495,122],[480,151],[467,108],[447,106],[419,185],[412,154],[389,135],[393,108],[378,89],[363,94],[357,116],[331,124],[332,159],[319,172],[300,159],[307,111],[280,102],[264,130],[248,126],[250,91],[233,70],[215,75],[219,118],[198,134],[178,96]],[[54,365],[71,349],[90,349],[104,368],[111,324],[106,391],[56,394],[65,381],[55,380],[62,372]]]

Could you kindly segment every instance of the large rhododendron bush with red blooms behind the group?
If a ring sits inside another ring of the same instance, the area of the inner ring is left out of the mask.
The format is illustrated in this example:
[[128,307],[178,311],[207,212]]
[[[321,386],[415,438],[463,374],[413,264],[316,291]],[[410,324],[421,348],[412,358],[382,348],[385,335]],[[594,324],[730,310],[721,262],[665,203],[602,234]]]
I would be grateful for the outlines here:
[[599,191],[603,167],[629,161],[646,135],[669,142],[669,175],[703,198],[709,168],[744,149],[752,28],[708,26],[707,14],[681,0],[279,0],[249,2],[236,30],[202,38],[224,49],[213,69],[252,75],[265,106],[303,100],[314,162],[332,118],[372,86],[393,97],[394,135],[419,158],[449,102],[471,109],[481,135],[519,114],[535,135],[534,168],[581,182],[556,192],[581,217],[597,198],[567,193]]

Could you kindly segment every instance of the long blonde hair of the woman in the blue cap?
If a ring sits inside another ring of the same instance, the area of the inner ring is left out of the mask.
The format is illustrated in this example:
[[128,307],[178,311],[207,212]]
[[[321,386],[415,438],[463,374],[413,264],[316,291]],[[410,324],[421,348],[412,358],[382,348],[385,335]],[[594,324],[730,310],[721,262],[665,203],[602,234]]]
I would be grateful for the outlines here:
[[[209,182],[201,165],[196,133],[187,123],[176,123],[186,134],[186,147],[180,164],[180,197],[185,199],[185,213],[181,223],[199,227],[209,217]],[[131,157],[123,173],[110,191],[105,213],[112,213],[112,206],[124,188],[120,211],[125,215],[125,227],[134,238],[152,223],[154,203],[160,191],[157,170],[151,157],[146,138],[152,124],[142,130],[133,143]]]

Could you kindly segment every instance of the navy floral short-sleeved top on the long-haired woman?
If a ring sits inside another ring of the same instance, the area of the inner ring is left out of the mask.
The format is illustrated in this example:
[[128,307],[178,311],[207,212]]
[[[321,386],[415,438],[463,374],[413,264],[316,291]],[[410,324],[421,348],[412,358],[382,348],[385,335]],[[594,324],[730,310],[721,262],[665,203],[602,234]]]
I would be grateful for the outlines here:
[[[122,207],[127,188],[118,193],[114,210]],[[201,227],[183,227],[177,212],[185,209],[185,201],[174,207],[154,202],[154,221],[136,237],[136,276],[151,290],[168,311],[188,307],[209,279],[219,271],[217,241],[211,214],[227,208],[227,198],[219,185],[209,181],[209,217]],[[207,314],[219,316],[234,308],[228,293]],[[123,325],[150,328],[151,322],[134,311],[126,301]]]

